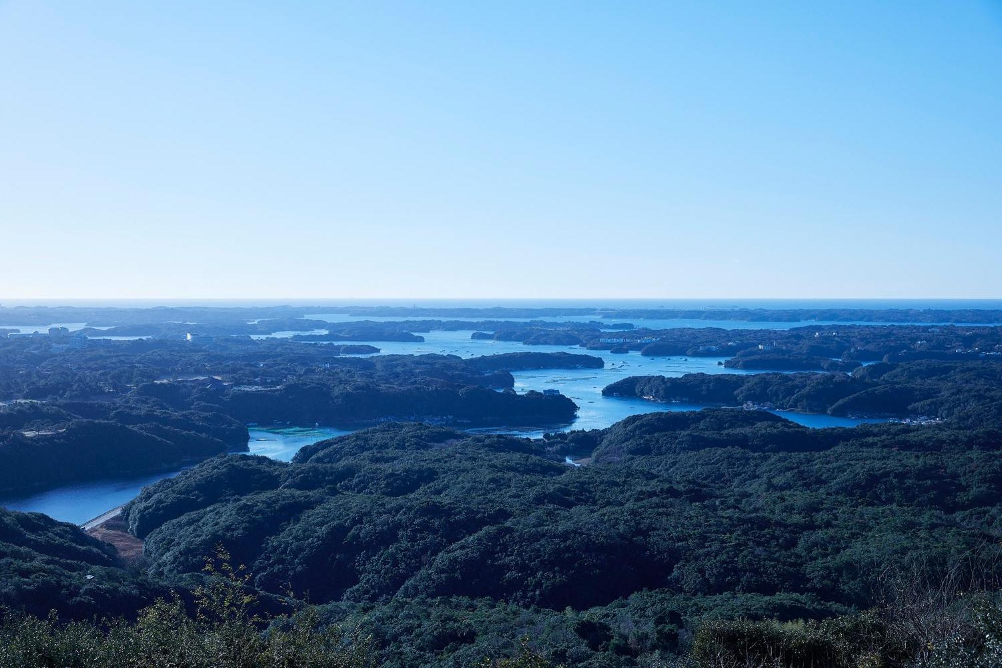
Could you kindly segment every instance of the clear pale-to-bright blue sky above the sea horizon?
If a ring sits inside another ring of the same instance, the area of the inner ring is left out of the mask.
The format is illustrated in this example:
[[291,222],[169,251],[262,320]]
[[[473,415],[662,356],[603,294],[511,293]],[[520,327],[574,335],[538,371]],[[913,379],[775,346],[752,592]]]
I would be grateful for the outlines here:
[[1002,297],[1002,2],[0,2],[5,297]]

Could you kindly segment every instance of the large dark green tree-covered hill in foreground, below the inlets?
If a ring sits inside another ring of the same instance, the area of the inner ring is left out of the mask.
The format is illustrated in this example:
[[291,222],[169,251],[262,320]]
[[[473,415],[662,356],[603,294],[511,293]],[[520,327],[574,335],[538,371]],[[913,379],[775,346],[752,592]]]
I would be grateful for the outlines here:
[[196,570],[221,540],[259,588],[316,603],[586,610],[651,591],[797,594],[834,610],[872,603],[881,568],[993,540],[1000,441],[981,436],[655,413],[587,434],[593,463],[575,468],[555,454],[573,434],[384,425],[289,464],[213,459],[126,514],[159,576]]

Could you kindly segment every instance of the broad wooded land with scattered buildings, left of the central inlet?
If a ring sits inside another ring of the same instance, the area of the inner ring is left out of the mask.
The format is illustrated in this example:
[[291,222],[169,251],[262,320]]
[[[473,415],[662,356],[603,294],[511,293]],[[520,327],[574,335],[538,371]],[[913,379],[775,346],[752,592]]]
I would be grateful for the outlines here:
[[[246,449],[246,423],[358,427],[570,422],[567,397],[517,394],[507,369],[601,366],[587,355],[345,356],[343,348],[232,338],[54,350],[0,339],[0,490],[156,471]],[[498,391],[503,390],[503,391]]]

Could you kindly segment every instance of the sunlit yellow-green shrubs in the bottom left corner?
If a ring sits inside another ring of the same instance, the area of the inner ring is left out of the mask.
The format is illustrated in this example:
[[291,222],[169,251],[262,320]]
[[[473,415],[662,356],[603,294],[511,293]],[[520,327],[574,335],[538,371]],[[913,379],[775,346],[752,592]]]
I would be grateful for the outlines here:
[[[249,576],[220,549],[195,590],[196,614],[177,598],[157,600],[134,622],[121,619],[60,624],[2,612],[0,668],[371,668],[371,639],[355,629],[318,627],[315,611],[295,619],[265,619],[255,612]],[[263,633],[271,621],[274,628]]]

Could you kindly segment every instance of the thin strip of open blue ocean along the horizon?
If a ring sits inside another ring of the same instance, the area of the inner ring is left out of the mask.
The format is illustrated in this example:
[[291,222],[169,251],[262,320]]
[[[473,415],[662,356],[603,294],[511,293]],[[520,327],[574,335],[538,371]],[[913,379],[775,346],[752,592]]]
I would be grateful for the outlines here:
[[420,306],[595,309],[1002,309],[1002,299],[0,299],[0,306]]

